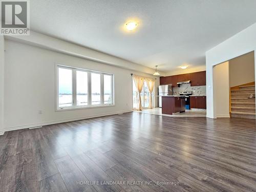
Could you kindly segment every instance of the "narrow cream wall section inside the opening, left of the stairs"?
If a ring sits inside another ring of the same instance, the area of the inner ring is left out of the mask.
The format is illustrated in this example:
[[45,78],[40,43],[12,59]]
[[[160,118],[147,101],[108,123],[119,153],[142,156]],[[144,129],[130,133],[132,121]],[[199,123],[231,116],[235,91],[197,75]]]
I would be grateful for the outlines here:
[[216,89],[214,97],[216,99],[215,108],[216,116],[229,116],[229,63],[223,62],[214,66],[214,87]]

